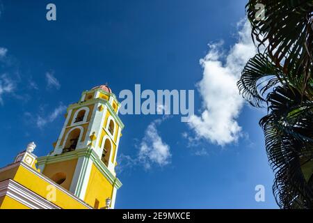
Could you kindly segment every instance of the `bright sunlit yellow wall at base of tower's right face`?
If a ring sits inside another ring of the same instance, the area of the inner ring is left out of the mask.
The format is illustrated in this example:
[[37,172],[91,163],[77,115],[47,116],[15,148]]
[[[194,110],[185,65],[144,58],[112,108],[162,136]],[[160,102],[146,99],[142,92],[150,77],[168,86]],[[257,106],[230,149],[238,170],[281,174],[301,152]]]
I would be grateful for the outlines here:
[[89,182],[84,201],[90,206],[95,205],[95,199],[99,200],[99,208],[106,206],[106,199],[112,197],[113,185],[95,167],[91,168]]

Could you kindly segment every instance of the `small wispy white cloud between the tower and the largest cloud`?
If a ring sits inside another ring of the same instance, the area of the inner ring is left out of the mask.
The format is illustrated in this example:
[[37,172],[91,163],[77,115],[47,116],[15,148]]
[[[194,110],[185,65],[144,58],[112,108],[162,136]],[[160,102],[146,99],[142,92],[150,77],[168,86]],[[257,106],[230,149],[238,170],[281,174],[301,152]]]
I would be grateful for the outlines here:
[[170,146],[166,144],[159,132],[157,125],[159,125],[165,118],[152,121],[145,130],[145,136],[141,140],[138,160],[143,163],[146,169],[150,169],[152,164],[158,164],[163,167],[170,163]]

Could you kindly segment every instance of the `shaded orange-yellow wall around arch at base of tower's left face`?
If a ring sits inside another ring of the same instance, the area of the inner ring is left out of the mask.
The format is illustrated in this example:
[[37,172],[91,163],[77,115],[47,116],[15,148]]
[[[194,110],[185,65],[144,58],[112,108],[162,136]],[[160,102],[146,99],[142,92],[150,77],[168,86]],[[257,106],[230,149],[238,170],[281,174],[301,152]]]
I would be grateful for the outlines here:
[[61,186],[70,190],[76,165],[77,159],[47,164],[45,169],[42,171],[42,174],[51,178],[54,174],[63,172],[66,175],[66,180],[61,184]]

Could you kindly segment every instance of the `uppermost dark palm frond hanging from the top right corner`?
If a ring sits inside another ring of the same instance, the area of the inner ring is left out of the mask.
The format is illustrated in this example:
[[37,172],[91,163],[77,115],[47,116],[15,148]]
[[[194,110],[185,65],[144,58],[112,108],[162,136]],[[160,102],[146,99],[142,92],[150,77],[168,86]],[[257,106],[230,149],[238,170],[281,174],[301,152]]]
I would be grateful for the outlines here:
[[[261,20],[255,16],[257,3],[265,7]],[[246,10],[257,46],[266,46],[265,52],[276,66],[282,66],[284,75],[300,79],[297,90],[311,97],[312,88],[307,88],[313,70],[312,0],[250,0]]]

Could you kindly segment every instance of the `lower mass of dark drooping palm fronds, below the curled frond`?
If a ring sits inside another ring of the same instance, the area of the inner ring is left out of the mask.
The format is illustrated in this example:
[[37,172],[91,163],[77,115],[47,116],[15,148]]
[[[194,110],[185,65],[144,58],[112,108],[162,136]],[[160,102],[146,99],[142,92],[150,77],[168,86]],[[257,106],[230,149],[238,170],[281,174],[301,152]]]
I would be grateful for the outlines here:
[[270,110],[260,120],[265,134],[266,153],[275,172],[273,193],[281,208],[313,208],[313,102],[300,93],[278,86],[268,94]]

